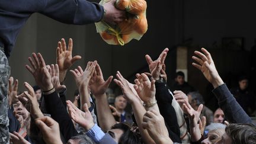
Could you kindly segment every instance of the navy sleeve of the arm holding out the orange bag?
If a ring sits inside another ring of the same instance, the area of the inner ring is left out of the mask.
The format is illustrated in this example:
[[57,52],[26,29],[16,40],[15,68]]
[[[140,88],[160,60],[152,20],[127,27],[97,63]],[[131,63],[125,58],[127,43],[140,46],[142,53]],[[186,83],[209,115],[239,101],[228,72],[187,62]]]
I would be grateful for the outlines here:
[[103,18],[104,8],[86,0],[47,0],[40,13],[66,24],[91,24]]

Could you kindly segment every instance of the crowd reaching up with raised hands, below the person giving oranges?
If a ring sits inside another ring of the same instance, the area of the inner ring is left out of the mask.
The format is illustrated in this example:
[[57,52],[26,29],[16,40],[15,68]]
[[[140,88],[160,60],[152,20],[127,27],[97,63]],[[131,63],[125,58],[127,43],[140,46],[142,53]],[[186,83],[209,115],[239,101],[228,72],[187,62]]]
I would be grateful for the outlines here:
[[[135,84],[119,71],[115,78],[109,76],[105,80],[97,60],[88,62],[86,67],[70,69],[81,59],[72,57],[72,39],[68,48],[64,39],[59,41],[55,64],[47,65],[40,53],[33,53],[25,68],[37,85],[32,87],[24,82],[27,91],[19,92],[18,79],[9,78],[10,142],[256,143],[255,124],[220,78],[210,53],[204,48],[196,51],[192,65],[214,87],[219,102],[214,113],[203,105],[199,92],[185,94],[169,89],[165,73],[167,53],[166,48],[156,60],[146,55],[149,72],[137,73]],[[78,88],[73,101],[66,100],[68,71]],[[112,80],[123,95],[109,105],[106,91]],[[124,110],[127,103],[132,106],[132,113]]]

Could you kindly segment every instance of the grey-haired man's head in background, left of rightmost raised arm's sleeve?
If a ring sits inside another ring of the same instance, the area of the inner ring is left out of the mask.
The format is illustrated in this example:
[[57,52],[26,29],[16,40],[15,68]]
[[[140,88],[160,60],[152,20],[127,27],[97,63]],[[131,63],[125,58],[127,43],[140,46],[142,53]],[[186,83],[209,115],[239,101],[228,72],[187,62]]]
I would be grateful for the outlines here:
[[190,103],[191,107],[193,107],[195,110],[197,110],[197,107],[200,104],[204,104],[203,96],[197,91],[189,92],[187,96],[188,103]]

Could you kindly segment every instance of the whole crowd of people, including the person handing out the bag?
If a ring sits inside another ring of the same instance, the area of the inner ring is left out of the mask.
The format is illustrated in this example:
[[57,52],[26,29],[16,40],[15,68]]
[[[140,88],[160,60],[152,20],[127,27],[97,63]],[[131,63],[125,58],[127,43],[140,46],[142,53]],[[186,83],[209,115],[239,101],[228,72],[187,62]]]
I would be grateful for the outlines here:
[[[73,41],[57,43],[56,63],[45,63],[40,53],[32,53],[25,66],[36,85],[9,77],[8,59],[18,31],[34,12],[67,24],[89,24],[100,20],[114,25],[126,19],[116,0],[99,5],[76,1],[0,1],[0,143],[256,143],[256,126],[251,117],[254,95],[248,79],[239,79],[239,88],[228,89],[210,53],[195,51],[192,65],[213,85],[219,108],[204,105],[203,96],[177,72],[175,84],[167,84],[165,58],[146,55],[149,72],[137,73],[134,82],[120,71],[104,79],[100,63],[71,69],[81,56],[72,56]],[[16,4],[17,3],[17,4]],[[66,100],[66,73],[71,72],[77,89],[74,100]],[[108,103],[111,82],[123,92]],[[132,113],[126,111],[126,105]]]

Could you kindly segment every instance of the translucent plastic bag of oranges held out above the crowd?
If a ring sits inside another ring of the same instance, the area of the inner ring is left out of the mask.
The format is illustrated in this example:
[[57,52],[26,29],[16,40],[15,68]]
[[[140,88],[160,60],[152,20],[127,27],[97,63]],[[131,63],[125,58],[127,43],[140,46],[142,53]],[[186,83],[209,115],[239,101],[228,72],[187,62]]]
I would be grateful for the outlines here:
[[[101,0],[103,5],[110,0]],[[101,20],[95,23],[97,33],[108,44],[121,45],[129,43],[130,40],[140,40],[143,34],[148,30],[148,21],[146,20],[146,1],[145,0],[117,0],[116,8],[126,10],[129,14],[127,20],[111,27],[105,21]]]

